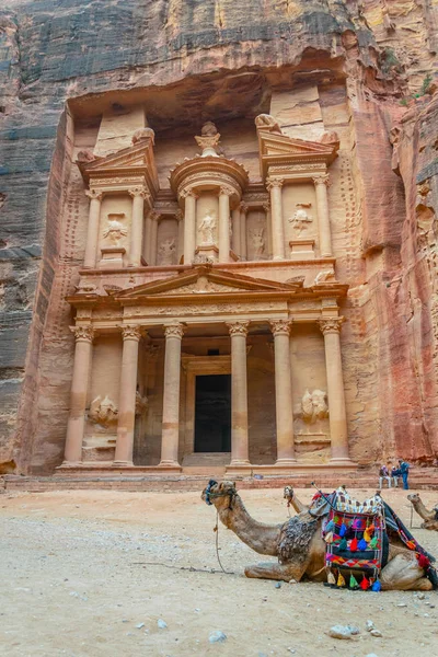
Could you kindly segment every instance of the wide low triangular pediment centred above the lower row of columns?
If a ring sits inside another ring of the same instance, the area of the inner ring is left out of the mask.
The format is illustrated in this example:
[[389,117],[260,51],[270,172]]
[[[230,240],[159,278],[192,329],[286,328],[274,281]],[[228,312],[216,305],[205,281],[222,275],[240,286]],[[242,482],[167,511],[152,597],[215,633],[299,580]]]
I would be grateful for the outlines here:
[[301,284],[281,284],[230,274],[220,269],[195,267],[194,270],[159,281],[124,290],[117,300],[128,301],[139,298],[200,297],[210,295],[289,295],[302,288]]

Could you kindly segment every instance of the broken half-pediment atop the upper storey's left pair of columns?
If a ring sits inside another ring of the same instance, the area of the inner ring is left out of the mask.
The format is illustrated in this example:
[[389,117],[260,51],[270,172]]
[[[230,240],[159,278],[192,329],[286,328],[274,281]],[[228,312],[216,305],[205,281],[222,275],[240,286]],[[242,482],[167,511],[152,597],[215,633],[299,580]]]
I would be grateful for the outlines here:
[[155,196],[159,191],[157,165],[153,154],[153,131],[136,140],[132,146],[104,158],[84,157],[79,153],[77,164],[87,185],[105,191],[106,187],[131,187],[146,184]]

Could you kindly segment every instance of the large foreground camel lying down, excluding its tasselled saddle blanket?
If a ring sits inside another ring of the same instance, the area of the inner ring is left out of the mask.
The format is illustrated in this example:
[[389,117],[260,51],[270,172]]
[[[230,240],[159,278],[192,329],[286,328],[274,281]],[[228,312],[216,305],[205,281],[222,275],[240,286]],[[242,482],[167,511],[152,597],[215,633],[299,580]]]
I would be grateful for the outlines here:
[[[246,566],[246,577],[260,577],[284,581],[303,578],[325,581],[325,543],[322,539],[322,518],[314,518],[309,507],[302,507],[297,516],[279,525],[257,522],[246,511],[233,482],[210,482],[201,499],[212,504],[222,523],[241,541],[258,554],[276,556],[278,563],[261,563]],[[298,508],[298,507],[296,507]],[[390,537],[388,563],[380,573],[383,590],[433,589],[431,581],[418,566],[415,554],[397,537]]]

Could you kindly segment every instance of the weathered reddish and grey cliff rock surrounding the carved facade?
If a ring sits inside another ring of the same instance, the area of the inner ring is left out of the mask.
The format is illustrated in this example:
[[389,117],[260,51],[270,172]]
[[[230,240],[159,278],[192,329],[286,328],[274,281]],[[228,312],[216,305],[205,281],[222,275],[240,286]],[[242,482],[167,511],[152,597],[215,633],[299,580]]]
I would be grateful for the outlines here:
[[[176,118],[194,126],[210,114],[266,111],[267,87],[321,84],[322,116],[307,96],[302,124],[311,130],[322,117],[343,136],[334,200],[345,222],[334,219],[334,243],[338,278],[350,285],[343,357],[351,456],[436,454],[438,96],[408,99],[423,94],[436,66],[437,24],[431,0],[2,3],[0,463],[50,472],[62,458],[72,345],[65,296],[82,258],[66,183],[66,102],[80,116],[96,94],[97,130],[104,110],[149,89],[148,117],[164,132]],[[159,117],[158,96],[168,107]],[[285,117],[290,130],[299,110]]]

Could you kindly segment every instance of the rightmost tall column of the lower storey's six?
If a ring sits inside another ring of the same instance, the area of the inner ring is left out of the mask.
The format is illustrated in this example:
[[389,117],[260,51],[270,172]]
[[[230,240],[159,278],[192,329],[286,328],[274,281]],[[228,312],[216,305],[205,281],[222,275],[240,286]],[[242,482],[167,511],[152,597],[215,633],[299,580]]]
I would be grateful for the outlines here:
[[348,462],[348,431],[345,408],[344,377],[341,359],[341,324],[344,318],[320,320],[324,335],[325,367],[327,371],[328,419],[332,461]]

